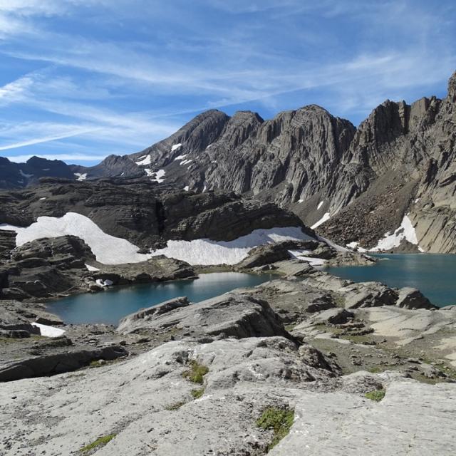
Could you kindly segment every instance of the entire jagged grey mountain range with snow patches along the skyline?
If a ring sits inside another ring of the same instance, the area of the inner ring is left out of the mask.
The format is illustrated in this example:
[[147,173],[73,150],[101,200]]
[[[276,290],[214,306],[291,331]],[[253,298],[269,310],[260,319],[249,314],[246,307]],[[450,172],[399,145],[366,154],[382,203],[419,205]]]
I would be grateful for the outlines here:
[[271,120],[208,110],[169,138],[94,167],[0,158],[4,189],[45,176],[233,191],[290,209],[361,252],[456,253],[456,73],[446,98],[386,100],[358,128],[317,105]]

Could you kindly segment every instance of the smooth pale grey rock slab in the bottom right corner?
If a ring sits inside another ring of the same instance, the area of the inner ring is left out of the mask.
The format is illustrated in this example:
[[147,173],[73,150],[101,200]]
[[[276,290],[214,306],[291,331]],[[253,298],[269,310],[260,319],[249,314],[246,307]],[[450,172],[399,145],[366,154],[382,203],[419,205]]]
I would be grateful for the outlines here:
[[456,452],[451,430],[456,418],[455,388],[397,380],[380,403],[342,392],[304,392],[289,435],[268,454],[452,455]]

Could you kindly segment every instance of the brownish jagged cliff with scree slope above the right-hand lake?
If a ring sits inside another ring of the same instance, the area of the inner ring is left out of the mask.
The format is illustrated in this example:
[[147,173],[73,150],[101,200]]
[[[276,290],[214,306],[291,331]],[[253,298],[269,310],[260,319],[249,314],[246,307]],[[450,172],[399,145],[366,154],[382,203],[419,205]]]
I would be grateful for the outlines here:
[[456,73],[443,100],[421,98],[410,106],[387,101],[376,108],[350,148],[353,160],[371,172],[368,190],[321,231],[369,248],[408,215],[417,248],[455,253],[455,102]]

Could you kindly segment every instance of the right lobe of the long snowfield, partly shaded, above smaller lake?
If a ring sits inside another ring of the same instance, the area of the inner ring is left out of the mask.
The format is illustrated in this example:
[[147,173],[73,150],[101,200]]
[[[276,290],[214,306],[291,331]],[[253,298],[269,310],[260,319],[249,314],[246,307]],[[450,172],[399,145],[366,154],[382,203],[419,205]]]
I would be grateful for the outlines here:
[[272,242],[314,239],[299,227],[255,229],[252,233],[234,241],[168,241],[165,249],[155,250],[152,255],[165,255],[190,264],[237,264],[247,257],[253,247]]

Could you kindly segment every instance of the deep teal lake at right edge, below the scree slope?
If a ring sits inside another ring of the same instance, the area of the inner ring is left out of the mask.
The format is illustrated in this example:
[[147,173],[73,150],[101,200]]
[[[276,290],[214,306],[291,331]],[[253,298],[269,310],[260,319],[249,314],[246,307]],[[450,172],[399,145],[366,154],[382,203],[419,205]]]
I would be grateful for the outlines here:
[[418,288],[436,306],[456,304],[456,255],[375,254],[371,266],[331,267],[325,271],[356,282],[380,281]]

